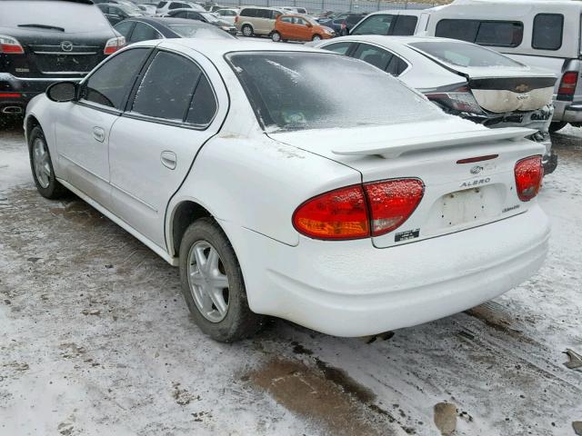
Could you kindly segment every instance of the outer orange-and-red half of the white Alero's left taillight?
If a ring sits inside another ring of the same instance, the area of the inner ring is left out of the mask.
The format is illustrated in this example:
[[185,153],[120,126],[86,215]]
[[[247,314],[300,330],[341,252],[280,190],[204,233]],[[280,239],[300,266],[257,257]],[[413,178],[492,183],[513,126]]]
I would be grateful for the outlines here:
[[293,214],[297,232],[316,239],[356,239],[370,235],[361,185],[317,195]]

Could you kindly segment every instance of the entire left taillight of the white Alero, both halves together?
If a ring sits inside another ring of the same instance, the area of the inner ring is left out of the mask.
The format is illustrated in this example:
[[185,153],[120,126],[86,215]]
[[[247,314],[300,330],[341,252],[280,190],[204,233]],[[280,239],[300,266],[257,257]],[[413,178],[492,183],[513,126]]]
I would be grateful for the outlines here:
[[402,225],[424,194],[418,179],[366,183],[322,193],[293,214],[297,232],[316,239],[380,236]]

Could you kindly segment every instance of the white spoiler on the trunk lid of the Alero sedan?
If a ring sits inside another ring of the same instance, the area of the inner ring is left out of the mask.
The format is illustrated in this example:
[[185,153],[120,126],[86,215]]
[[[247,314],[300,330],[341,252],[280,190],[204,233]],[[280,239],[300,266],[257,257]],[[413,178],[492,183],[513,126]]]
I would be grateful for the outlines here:
[[533,129],[522,127],[505,127],[500,129],[471,130],[453,134],[426,134],[410,138],[386,139],[385,141],[364,144],[350,144],[332,150],[334,154],[346,156],[366,156],[378,154],[386,159],[393,159],[402,154],[424,152],[435,148],[453,148],[469,144],[487,144],[495,141],[520,139],[535,134]]

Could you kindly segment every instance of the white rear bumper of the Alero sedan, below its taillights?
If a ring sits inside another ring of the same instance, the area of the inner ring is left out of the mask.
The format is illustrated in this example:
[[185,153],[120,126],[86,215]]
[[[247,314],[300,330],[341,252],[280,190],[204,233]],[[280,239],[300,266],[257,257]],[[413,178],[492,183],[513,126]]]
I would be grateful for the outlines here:
[[221,224],[253,311],[336,336],[409,327],[487,302],[537,272],[549,237],[537,204],[497,223],[386,249],[303,237],[292,247]]

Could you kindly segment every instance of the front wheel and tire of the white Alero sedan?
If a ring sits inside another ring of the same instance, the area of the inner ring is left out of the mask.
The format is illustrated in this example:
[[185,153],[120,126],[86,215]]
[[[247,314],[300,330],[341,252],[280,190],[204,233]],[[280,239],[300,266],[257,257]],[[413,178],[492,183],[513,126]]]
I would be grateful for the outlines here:
[[36,126],[28,136],[28,158],[38,192],[49,200],[64,197],[68,191],[55,178],[55,169],[46,144],[45,134]]

